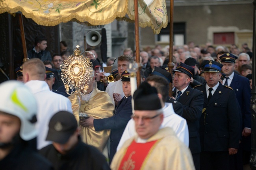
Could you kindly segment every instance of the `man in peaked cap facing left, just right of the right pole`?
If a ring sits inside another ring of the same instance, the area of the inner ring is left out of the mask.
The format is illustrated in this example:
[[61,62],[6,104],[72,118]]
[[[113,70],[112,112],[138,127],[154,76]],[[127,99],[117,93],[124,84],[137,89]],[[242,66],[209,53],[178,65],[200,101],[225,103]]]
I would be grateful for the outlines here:
[[189,130],[189,149],[191,150],[196,170],[200,169],[200,138],[199,138],[199,119],[203,109],[203,94],[199,90],[189,87],[191,77],[195,71],[184,63],[180,63],[173,71],[174,87],[176,90],[173,97],[183,105],[182,117],[187,120]]

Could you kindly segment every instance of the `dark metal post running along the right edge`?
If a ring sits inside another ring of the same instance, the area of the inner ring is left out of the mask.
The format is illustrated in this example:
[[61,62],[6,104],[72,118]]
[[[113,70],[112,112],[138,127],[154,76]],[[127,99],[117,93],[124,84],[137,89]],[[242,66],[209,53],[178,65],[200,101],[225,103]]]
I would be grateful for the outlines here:
[[256,0],[253,1],[253,41],[252,41],[252,51],[253,51],[253,58],[252,58],[252,97],[250,100],[250,109],[252,112],[252,133],[251,133],[251,156],[250,156],[250,167],[252,170],[256,170],[256,86],[255,86],[255,68],[256,68]]

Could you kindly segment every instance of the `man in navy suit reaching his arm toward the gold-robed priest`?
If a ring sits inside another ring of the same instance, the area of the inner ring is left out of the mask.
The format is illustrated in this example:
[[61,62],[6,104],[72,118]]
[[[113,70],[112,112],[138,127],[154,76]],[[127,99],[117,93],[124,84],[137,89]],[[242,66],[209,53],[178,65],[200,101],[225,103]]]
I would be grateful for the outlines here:
[[124,97],[119,101],[115,115],[105,119],[93,119],[90,117],[85,120],[85,122],[87,122],[85,125],[94,126],[96,131],[111,129],[109,164],[115,155],[122,133],[132,116],[132,96],[129,73],[127,71],[122,72],[121,79]]

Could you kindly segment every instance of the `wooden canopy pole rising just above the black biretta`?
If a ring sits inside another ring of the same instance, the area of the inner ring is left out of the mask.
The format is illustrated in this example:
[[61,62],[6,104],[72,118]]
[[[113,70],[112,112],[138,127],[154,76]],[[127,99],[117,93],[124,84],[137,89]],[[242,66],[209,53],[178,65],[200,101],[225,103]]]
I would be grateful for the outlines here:
[[137,87],[141,84],[141,69],[142,64],[139,59],[139,10],[138,10],[138,0],[134,0],[134,22],[135,22],[135,50],[136,50],[136,63],[138,65],[137,71]]

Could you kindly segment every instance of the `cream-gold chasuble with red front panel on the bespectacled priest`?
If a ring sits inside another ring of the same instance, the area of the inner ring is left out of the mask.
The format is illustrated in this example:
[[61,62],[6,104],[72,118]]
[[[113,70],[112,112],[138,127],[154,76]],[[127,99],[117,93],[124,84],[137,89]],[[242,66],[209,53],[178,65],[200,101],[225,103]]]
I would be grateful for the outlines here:
[[195,170],[191,152],[170,127],[137,143],[137,135],[117,151],[111,170]]

